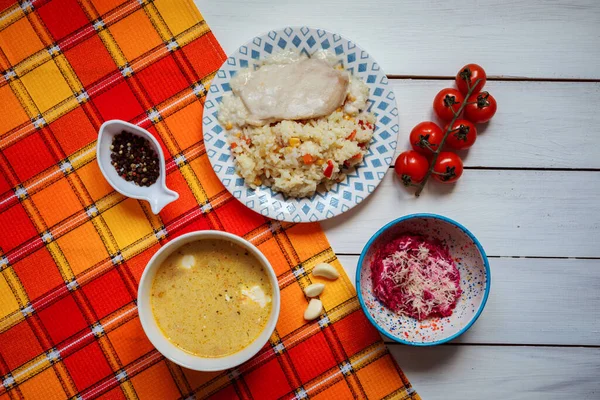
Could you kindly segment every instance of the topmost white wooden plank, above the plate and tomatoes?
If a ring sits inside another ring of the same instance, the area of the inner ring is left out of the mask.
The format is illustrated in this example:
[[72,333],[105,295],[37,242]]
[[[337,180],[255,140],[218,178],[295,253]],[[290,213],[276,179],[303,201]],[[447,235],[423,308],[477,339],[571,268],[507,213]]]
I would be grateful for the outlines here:
[[271,29],[309,25],[356,41],[387,74],[600,78],[596,0],[195,0],[227,53]]

